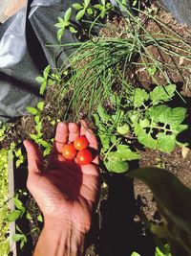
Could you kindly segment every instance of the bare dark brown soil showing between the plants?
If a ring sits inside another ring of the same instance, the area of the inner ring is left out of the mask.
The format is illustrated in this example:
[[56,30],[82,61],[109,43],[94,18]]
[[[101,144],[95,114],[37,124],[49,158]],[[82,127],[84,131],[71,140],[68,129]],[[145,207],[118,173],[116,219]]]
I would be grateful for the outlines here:
[[[190,40],[190,30],[185,26],[180,26],[169,13],[160,9],[158,18],[184,39]],[[123,24],[116,19],[112,23],[112,26],[118,27],[118,34],[115,36],[121,36]],[[147,30],[159,32],[160,28],[153,21],[148,21]],[[165,55],[161,57],[159,52],[154,48],[151,48],[150,52],[156,58],[162,58],[162,61],[165,63],[173,63],[173,71],[169,73],[169,76],[172,82],[179,85],[180,93],[186,97],[188,103],[187,105],[182,104],[178,97],[178,105],[187,106],[189,111],[189,105],[191,103],[189,98],[191,97],[190,72],[185,69],[179,72],[176,68],[176,63],[186,68],[188,63],[186,61],[180,62],[180,58],[169,58],[169,56]],[[148,89],[152,86],[153,81],[150,80],[150,77],[144,70],[136,72],[136,76],[136,80],[141,86]],[[156,74],[156,78],[159,83],[166,83],[159,76],[159,73]],[[56,91],[57,88],[49,88],[46,94],[45,110],[41,117],[43,121],[44,139],[46,140],[53,138],[54,135],[54,127],[50,122],[57,119],[62,120],[62,113],[64,112],[64,104],[63,106],[57,105],[56,97],[54,96]],[[31,116],[15,120],[2,146],[7,148],[11,141],[18,142],[30,138],[30,134],[34,132],[34,122]],[[188,135],[190,137],[190,134]],[[188,137],[186,139],[188,141]],[[141,154],[141,160],[138,163],[140,167],[153,166],[165,168],[178,176],[186,186],[191,186],[191,151],[187,149],[181,150],[177,147],[175,151],[169,154],[148,149],[139,151],[139,153]],[[15,171],[15,175],[17,175],[16,172],[18,171]],[[27,167],[25,167],[25,172],[26,178]],[[134,250],[138,251],[141,256],[154,256],[155,244],[150,232],[141,220],[140,214],[143,209],[148,220],[160,222],[155,199],[151,191],[140,181],[124,179],[123,175],[108,175],[103,173],[102,176],[101,197],[92,230],[89,234],[86,256],[129,256]],[[28,198],[26,204],[32,214],[33,221],[30,222],[30,228],[32,230],[34,226],[40,226],[39,223],[34,221],[39,214],[39,210],[36,208],[36,204],[31,197]],[[37,241],[38,235],[39,232],[32,233],[33,246]],[[30,254],[27,255],[30,256]]]

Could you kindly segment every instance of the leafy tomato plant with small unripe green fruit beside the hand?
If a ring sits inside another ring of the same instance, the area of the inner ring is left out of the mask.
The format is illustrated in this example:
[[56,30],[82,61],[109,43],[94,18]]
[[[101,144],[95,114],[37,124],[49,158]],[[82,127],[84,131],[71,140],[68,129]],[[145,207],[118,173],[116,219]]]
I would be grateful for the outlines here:
[[135,148],[138,143],[168,153],[181,145],[177,136],[188,128],[182,124],[186,108],[164,105],[175,92],[175,84],[157,86],[150,92],[136,88],[127,98],[125,95],[121,99],[112,97],[110,113],[98,105],[94,119],[101,156],[108,171],[126,172],[127,161],[140,158]]

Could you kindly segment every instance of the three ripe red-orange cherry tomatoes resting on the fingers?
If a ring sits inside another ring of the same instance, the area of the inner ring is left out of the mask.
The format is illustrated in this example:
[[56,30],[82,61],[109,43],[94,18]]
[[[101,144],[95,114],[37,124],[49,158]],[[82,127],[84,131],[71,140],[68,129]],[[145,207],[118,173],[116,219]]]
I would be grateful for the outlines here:
[[76,162],[79,165],[86,165],[92,162],[92,152],[87,148],[89,141],[85,136],[79,136],[74,143],[64,145],[62,154],[64,158],[72,160],[76,157]]

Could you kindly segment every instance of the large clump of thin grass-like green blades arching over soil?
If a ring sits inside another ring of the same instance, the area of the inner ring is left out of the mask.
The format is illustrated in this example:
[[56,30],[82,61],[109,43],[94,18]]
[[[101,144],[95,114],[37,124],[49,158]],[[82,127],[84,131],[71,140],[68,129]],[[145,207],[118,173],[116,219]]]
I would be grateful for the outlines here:
[[[78,47],[69,58],[70,69],[67,75],[63,76],[63,86],[60,91],[60,99],[68,97],[68,110],[73,109],[77,119],[80,112],[92,115],[98,104],[103,104],[114,93],[120,95],[134,86],[129,80],[129,74],[145,70],[151,78],[152,83],[159,84],[156,73],[164,78],[164,84],[171,83],[169,72],[174,70],[171,63],[166,63],[162,58],[157,58],[150,51],[154,47],[159,55],[169,58],[183,58],[188,62],[186,67],[176,65],[176,70],[189,69],[191,61],[191,46],[180,38],[180,35],[172,32],[165,24],[159,21],[150,13],[135,9],[138,13],[144,14],[147,19],[156,22],[162,30],[156,33],[149,33],[145,24],[139,16],[134,16],[127,8],[126,14],[120,12],[119,5],[116,12],[123,19],[125,27],[120,37],[105,37],[91,35],[91,39],[71,44],[70,47]],[[102,25],[108,31],[107,24]],[[62,45],[62,47],[69,45]],[[68,61],[68,60],[67,60]],[[63,74],[63,69],[60,70]],[[70,93],[69,93],[70,92]]]

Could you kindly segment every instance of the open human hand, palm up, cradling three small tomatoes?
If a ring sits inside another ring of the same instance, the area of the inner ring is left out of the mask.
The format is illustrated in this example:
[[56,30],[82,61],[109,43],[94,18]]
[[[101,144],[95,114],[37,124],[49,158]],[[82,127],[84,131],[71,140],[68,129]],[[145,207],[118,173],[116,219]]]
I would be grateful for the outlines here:
[[74,123],[59,123],[47,168],[38,147],[28,140],[24,145],[29,165],[27,186],[45,222],[64,222],[86,233],[91,226],[99,191],[98,156],[92,163],[79,166],[61,154],[63,145],[80,135],[85,135],[90,147],[97,151],[96,136],[84,121],[80,128]]

